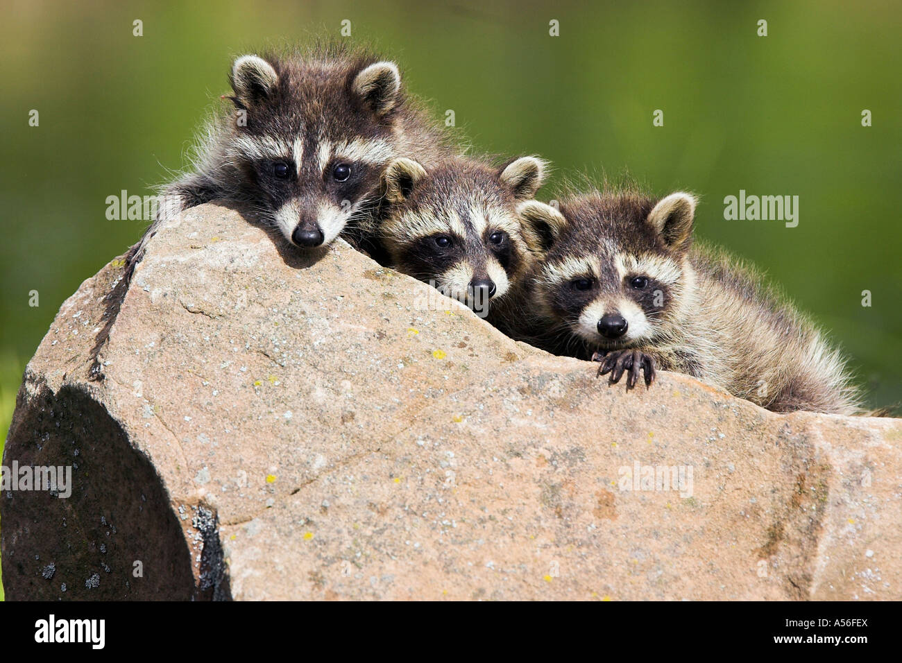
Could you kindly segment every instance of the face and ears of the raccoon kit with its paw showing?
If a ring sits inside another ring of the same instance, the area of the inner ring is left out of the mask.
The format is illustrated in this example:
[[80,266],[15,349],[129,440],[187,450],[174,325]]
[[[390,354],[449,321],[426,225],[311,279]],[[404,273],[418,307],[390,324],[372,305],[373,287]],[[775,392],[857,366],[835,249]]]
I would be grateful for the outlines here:
[[690,278],[695,202],[675,193],[654,207],[631,197],[563,207],[566,229],[538,270],[539,308],[590,348],[638,347],[666,336]]

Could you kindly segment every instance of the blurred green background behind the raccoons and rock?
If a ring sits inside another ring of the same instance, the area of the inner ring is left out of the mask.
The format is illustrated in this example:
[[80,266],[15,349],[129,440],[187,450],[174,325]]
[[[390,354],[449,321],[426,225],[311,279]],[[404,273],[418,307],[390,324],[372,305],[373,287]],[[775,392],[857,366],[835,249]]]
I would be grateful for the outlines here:
[[[437,115],[453,109],[476,149],[553,161],[540,197],[626,169],[658,193],[700,194],[697,232],[812,313],[872,405],[902,401],[900,3],[29,0],[5,2],[3,15],[3,438],[62,301],[142,233],[142,222],[106,220],[106,197],[150,195],[183,166],[235,55],[341,39],[345,19],[349,39],[399,60]],[[798,227],[725,221],[723,198],[740,189],[799,196]]]

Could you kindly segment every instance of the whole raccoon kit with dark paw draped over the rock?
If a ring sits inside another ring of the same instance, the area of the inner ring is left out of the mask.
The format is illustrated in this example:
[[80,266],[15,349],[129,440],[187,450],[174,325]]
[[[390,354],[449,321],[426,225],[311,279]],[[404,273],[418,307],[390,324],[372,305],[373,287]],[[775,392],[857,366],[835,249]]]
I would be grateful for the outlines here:
[[610,382],[693,375],[778,412],[860,413],[840,352],[736,258],[692,243],[696,200],[591,191],[530,207],[545,258],[499,325],[557,355],[601,362]]

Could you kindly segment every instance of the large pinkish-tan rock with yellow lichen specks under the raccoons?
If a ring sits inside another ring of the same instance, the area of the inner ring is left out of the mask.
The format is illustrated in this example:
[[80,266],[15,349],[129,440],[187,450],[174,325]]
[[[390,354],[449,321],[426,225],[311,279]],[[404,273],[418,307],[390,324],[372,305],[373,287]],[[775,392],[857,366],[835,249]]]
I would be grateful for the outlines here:
[[225,207],[152,240],[109,327],[121,272],[25,372],[4,464],[74,486],[0,497],[9,598],[902,598],[899,420],[608,387]]

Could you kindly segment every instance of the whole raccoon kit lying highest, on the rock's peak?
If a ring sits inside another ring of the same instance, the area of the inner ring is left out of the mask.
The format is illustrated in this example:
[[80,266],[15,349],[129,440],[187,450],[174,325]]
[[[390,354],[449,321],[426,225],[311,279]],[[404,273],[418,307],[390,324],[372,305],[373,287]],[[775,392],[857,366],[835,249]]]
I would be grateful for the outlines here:
[[215,199],[253,208],[291,244],[328,244],[368,211],[386,163],[454,152],[405,94],[398,67],[363,51],[245,55],[229,78],[234,112],[207,129],[194,171],[164,189],[130,265],[161,221]]

